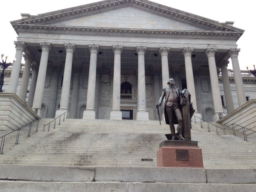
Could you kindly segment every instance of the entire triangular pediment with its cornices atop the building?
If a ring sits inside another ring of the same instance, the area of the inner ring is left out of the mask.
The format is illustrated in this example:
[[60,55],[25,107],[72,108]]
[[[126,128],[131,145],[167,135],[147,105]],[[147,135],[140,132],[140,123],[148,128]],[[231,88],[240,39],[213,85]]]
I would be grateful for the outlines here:
[[[51,31],[77,34],[118,32],[169,35],[182,38],[223,36],[238,40],[244,30],[148,0],[104,0],[11,22],[19,32]],[[166,36],[167,37],[167,36]]]

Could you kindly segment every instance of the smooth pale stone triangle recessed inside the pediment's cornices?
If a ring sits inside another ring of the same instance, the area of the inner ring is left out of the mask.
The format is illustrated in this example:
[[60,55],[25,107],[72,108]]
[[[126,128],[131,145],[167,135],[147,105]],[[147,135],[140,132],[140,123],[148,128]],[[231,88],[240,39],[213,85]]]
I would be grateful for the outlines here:
[[198,26],[180,22],[139,10],[134,7],[124,7],[108,12],[56,22],[50,25],[57,26],[85,26],[85,27],[108,27],[128,28],[142,30],[202,30]]

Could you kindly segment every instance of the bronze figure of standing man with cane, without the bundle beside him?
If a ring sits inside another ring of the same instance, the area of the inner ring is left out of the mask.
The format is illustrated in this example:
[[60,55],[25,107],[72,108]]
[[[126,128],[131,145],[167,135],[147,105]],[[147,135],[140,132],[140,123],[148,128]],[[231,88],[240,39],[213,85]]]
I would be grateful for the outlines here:
[[160,97],[159,103],[156,108],[161,106],[161,103],[165,97],[164,102],[164,117],[166,124],[170,125],[172,134],[172,140],[175,140],[175,128],[174,124],[178,124],[179,139],[186,140],[183,136],[183,119],[180,106],[180,90],[174,86],[174,79],[170,78],[168,81],[168,87],[164,88]]

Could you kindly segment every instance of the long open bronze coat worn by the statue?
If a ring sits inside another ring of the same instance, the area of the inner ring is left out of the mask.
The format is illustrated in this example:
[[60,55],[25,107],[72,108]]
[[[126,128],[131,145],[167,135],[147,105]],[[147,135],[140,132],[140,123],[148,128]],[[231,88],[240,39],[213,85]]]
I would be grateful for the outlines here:
[[[176,87],[174,87],[174,90],[177,92],[178,99],[179,99],[178,104],[174,104],[174,105],[176,107],[180,108],[180,90],[178,90]],[[165,97],[165,102],[164,102],[164,118],[165,118],[166,124],[168,124],[168,125],[170,124],[170,122],[169,122],[169,118],[168,118],[168,115],[167,115],[167,112],[166,112],[166,109],[165,109],[165,105],[166,105],[167,98],[168,98],[169,94],[170,94],[170,86],[168,86],[168,87],[163,89],[162,95],[161,95],[160,100],[159,100],[159,103],[162,103],[162,101],[163,101],[163,99]],[[174,119],[174,121],[173,121],[174,124],[178,124],[177,117],[174,115],[172,118]]]

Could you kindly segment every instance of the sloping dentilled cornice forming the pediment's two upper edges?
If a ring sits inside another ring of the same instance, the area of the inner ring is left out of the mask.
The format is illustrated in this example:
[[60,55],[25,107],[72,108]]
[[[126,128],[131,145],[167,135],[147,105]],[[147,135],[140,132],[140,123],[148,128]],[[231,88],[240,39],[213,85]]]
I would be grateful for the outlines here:
[[[63,9],[54,12],[48,12],[45,14],[39,14],[38,16],[30,16],[21,20],[11,22],[16,32],[21,32],[19,28],[30,28],[31,26],[38,26],[42,28],[56,28],[56,26],[47,26],[57,22],[70,20],[74,18],[80,18],[100,12],[107,12],[110,10],[116,10],[124,7],[134,7],[146,12],[150,12],[162,17],[170,18],[172,20],[184,22],[193,26],[197,26],[204,30],[206,33],[220,32],[222,35],[230,34],[231,32],[236,33],[239,38],[244,30],[223,24],[214,20],[210,20],[204,17],[200,17],[194,14],[183,12],[174,8],[170,8],[161,4],[150,2],[148,0],[105,0],[96,2],[93,4],[86,4],[83,6],[77,6],[73,8]],[[57,26],[60,28],[60,26]],[[71,26],[70,26],[71,27]],[[66,27],[68,28],[68,27]],[[76,28],[76,27],[71,27]],[[82,27],[80,27],[82,28]]]

